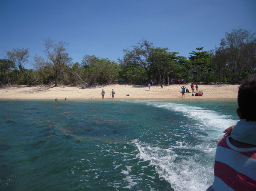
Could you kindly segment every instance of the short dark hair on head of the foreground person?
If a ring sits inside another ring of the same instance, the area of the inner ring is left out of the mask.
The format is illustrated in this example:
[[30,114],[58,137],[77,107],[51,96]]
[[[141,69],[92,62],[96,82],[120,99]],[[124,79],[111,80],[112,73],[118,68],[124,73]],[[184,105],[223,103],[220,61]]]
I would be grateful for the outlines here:
[[244,80],[238,90],[237,102],[242,119],[256,121],[256,77]]

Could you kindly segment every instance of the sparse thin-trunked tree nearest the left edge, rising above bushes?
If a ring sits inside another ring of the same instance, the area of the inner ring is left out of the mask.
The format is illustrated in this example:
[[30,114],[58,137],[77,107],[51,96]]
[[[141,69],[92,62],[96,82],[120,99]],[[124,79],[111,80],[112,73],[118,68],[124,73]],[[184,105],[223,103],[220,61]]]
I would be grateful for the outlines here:
[[23,66],[28,62],[29,58],[29,48],[13,48],[13,51],[6,51],[7,56],[10,60],[12,60],[16,66],[19,68],[18,73],[18,82],[23,74]]

